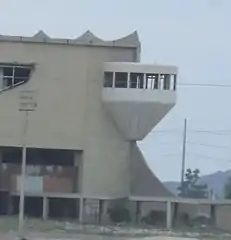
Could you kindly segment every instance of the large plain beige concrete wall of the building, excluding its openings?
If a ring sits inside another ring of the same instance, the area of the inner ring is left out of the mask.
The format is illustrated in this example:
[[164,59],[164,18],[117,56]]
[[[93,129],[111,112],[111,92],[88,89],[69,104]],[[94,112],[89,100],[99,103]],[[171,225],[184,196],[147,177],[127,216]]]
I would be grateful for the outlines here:
[[135,51],[0,42],[0,62],[36,64],[28,84],[0,95],[0,146],[22,144],[19,92],[37,90],[38,108],[29,116],[27,145],[84,150],[83,194],[127,196],[129,147],[101,105],[102,63],[134,61]]

